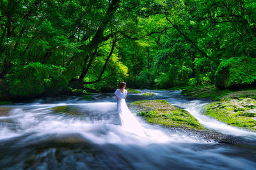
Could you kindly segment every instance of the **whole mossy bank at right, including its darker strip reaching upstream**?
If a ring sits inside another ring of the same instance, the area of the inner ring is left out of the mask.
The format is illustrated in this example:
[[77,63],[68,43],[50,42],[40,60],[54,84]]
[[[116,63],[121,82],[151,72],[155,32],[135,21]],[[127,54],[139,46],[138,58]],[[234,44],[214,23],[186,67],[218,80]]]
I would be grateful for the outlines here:
[[256,131],[256,89],[220,90],[214,86],[187,87],[182,94],[188,97],[211,97],[204,115],[228,125]]

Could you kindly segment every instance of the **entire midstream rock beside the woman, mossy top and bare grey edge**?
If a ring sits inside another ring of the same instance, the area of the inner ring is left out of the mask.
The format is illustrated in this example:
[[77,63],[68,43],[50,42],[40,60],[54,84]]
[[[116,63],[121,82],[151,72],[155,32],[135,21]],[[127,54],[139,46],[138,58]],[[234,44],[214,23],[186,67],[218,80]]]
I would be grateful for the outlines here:
[[197,136],[205,141],[218,143],[248,143],[244,139],[203,127],[188,111],[177,108],[164,100],[135,101],[129,104],[129,108],[149,124],[161,125],[168,131],[180,135]]

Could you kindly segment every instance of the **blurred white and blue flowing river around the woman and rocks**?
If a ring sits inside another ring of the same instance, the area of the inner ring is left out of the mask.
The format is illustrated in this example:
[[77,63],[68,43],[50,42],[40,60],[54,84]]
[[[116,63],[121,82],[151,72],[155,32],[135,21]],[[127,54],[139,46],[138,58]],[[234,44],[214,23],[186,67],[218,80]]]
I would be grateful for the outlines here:
[[148,91],[157,95],[128,94],[127,103],[164,99],[239,142],[150,125],[135,114],[141,127],[126,131],[118,125],[113,94],[95,94],[95,101],[45,98],[0,107],[0,169],[256,169],[255,132],[202,115],[209,100],[141,90]]

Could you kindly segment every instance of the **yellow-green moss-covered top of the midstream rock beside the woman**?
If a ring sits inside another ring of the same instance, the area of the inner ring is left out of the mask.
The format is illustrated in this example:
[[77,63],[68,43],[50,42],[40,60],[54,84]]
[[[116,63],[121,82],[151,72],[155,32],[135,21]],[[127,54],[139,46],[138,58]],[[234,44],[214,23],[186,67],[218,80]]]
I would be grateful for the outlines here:
[[150,124],[193,130],[204,129],[188,111],[176,108],[167,101],[135,101],[131,105],[139,108],[138,116],[145,118]]

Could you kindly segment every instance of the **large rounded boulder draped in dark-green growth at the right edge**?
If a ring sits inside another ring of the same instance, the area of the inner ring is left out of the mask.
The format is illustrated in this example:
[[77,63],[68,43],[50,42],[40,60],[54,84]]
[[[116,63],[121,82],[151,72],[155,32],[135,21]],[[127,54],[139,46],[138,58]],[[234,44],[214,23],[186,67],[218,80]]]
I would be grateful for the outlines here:
[[223,60],[215,74],[215,85],[220,89],[256,86],[256,59],[231,57]]

